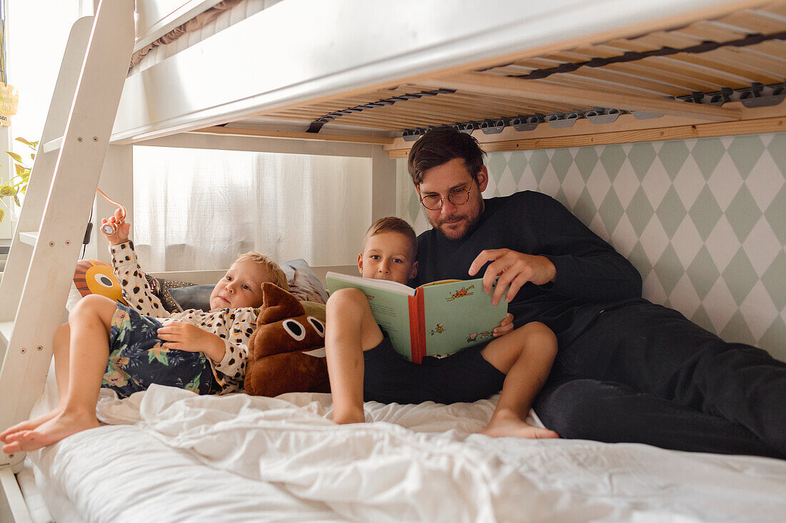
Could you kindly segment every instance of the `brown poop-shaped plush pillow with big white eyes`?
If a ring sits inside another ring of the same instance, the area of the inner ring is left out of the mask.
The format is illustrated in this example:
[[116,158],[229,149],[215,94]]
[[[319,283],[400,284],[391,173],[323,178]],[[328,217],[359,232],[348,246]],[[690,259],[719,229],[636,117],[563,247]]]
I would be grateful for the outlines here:
[[329,392],[325,358],[306,354],[325,346],[324,313],[321,319],[307,313],[297,298],[273,283],[263,283],[262,293],[256,330],[248,341],[246,393]]

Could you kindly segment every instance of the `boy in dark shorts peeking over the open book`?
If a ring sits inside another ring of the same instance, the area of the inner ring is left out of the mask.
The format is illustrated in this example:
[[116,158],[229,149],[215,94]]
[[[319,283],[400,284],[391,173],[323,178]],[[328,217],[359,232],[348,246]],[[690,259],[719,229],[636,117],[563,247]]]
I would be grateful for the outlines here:
[[[358,270],[364,278],[408,283],[417,275],[417,239],[400,218],[381,218],[365,233]],[[369,301],[355,288],[331,294],[326,306],[325,352],[333,421],[365,421],[363,401],[450,404],[500,393],[483,433],[491,437],[558,437],[526,422],[556,356],[556,337],[545,324],[513,329],[512,315],[494,328],[494,339],[447,357],[414,364],[396,353],[376,324]]]

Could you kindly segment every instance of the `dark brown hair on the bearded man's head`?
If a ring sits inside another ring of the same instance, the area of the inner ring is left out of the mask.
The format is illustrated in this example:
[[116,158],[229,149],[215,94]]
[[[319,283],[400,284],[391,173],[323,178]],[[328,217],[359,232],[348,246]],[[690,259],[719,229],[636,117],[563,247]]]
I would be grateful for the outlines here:
[[478,181],[483,167],[483,149],[472,134],[461,133],[455,127],[437,127],[429,130],[410,149],[406,168],[415,185],[421,185],[423,173],[432,167],[461,158],[469,174]]

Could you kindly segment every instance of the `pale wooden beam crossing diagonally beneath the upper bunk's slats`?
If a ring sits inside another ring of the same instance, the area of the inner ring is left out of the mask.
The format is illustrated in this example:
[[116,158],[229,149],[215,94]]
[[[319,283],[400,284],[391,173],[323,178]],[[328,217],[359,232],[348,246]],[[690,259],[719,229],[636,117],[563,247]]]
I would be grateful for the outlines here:
[[545,85],[532,80],[510,78],[477,72],[461,73],[438,79],[418,80],[418,85],[446,88],[525,100],[550,101],[562,104],[586,104],[625,111],[653,112],[661,115],[693,116],[712,122],[740,119],[740,111],[714,105],[671,101],[661,97],[638,97],[568,86]]

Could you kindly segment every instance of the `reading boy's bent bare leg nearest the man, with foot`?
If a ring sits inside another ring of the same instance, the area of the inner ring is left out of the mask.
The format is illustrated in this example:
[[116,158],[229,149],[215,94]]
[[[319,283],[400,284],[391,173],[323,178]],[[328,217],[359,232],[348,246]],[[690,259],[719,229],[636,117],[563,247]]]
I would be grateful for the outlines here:
[[559,437],[553,430],[527,424],[527,413],[549,376],[556,337],[544,324],[531,322],[490,342],[483,357],[505,372],[497,408],[481,433],[491,437]]

